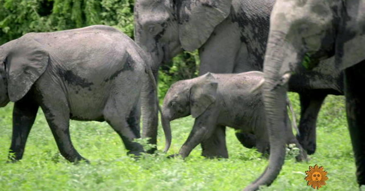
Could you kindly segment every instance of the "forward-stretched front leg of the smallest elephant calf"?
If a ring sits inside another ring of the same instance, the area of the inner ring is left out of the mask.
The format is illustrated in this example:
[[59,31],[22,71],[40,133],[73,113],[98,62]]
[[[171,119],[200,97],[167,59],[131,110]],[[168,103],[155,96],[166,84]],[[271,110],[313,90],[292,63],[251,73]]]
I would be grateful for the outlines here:
[[179,155],[183,158],[189,156],[193,148],[210,138],[215,132],[216,115],[208,113],[206,112],[195,119],[193,129],[179,151]]

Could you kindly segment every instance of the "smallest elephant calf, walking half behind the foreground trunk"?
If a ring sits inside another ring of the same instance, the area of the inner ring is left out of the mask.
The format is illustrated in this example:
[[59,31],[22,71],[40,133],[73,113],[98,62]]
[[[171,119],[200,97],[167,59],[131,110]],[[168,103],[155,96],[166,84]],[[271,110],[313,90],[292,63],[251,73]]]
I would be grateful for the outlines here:
[[[261,91],[255,85],[264,73],[251,71],[239,74],[207,73],[203,76],[174,83],[166,93],[162,113],[168,120],[192,115],[194,126],[179,155],[188,156],[199,143],[205,157],[228,158],[225,128],[233,127],[246,135],[244,145],[253,144],[258,151],[269,149],[264,104]],[[305,160],[306,153],[293,135],[287,116],[287,143],[300,148],[297,160]],[[248,143],[247,143],[248,142]],[[253,142],[253,143],[250,143]]]

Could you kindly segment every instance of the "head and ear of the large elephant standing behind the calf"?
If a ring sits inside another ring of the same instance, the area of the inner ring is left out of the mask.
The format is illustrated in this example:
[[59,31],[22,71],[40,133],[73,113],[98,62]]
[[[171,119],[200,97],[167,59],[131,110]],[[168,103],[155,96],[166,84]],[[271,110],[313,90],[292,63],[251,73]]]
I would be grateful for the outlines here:
[[201,47],[230,7],[231,0],[137,0],[135,40],[158,68],[183,49]]

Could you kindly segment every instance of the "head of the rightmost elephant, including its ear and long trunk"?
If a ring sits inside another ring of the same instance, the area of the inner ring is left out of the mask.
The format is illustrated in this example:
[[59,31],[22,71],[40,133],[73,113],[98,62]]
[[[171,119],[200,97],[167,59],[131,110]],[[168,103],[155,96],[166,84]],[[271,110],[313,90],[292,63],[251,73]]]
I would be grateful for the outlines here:
[[[339,69],[364,60],[364,0],[277,0],[270,17],[263,99],[269,129],[269,165],[245,190],[269,185],[284,163],[287,82],[300,64],[307,69],[335,56]],[[362,11],[361,11],[362,10]],[[304,57],[310,61],[302,62]]]

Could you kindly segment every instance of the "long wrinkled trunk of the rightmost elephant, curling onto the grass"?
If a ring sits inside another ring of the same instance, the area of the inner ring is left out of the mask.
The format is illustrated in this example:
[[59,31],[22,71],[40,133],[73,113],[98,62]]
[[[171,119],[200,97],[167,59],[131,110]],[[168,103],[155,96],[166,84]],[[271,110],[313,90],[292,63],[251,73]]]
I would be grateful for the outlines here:
[[289,68],[289,63],[293,63],[290,59],[297,55],[285,43],[285,36],[283,32],[270,32],[264,62],[265,82],[262,94],[270,141],[269,165],[259,178],[245,188],[245,191],[254,191],[261,185],[270,185],[284,164],[287,141],[283,139],[287,128],[287,82],[291,76],[288,70],[284,71]]

